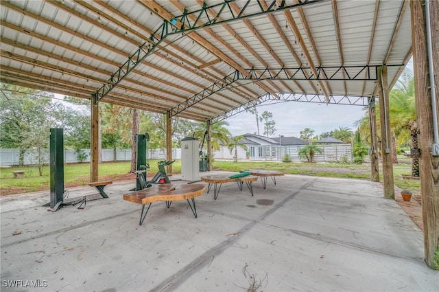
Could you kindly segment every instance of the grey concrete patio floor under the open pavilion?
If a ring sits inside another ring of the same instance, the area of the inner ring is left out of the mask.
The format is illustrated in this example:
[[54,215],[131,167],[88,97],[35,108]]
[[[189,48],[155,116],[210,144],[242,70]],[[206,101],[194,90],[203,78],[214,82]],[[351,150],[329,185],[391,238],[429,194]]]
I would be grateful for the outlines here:
[[198,218],[187,201],[153,203],[141,226],[122,199],[134,181],[84,210],[49,212],[49,192],[1,197],[1,291],[439,291],[423,233],[380,183],[276,182],[254,196],[223,184],[195,198]]

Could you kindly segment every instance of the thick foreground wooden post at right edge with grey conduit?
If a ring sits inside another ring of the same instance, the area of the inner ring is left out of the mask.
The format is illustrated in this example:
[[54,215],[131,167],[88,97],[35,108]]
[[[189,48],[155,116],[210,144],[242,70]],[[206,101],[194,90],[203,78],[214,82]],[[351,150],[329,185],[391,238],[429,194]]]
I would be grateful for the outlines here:
[[[410,1],[412,12],[412,42],[414,85],[416,92],[416,115],[420,149],[420,193],[424,223],[425,262],[434,267],[435,253],[439,254],[439,157],[431,155],[434,142],[431,85],[427,55],[427,25],[424,1]],[[429,1],[431,47],[433,54],[434,81],[436,83],[436,104],[439,105],[439,1]],[[436,256],[436,260],[438,260]],[[437,262],[436,262],[437,263]]]

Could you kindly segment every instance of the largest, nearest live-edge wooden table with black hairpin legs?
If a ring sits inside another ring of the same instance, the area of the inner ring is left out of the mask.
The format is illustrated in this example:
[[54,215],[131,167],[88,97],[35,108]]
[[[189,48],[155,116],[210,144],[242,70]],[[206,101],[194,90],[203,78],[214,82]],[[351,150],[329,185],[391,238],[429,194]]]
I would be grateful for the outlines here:
[[[169,208],[171,207],[172,201],[187,200],[187,203],[189,203],[189,207],[191,207],[193,216],[197,218],[197,210],[195,209],[195,196],[202,195],[206,188],[207,187],[205,185],[195,183],[190,185],[160,183],[155,184],[150,188],[139,190],[137,192],[129,192],[128,194],[123,194],[123,199],[142,205],[139,225],[142,225],[143,220],[145,220],[145,216],[148,210],[150,210],[151,204],[157,201],[165,201],[166,207]],[[191,205],[191,202],[189,202],[189,199],[191,199],[193,206]],[[147,207],[145,214],[143,214],[143,211],[145,210],[145,205],[147,203],[149,203],[150,205]]]

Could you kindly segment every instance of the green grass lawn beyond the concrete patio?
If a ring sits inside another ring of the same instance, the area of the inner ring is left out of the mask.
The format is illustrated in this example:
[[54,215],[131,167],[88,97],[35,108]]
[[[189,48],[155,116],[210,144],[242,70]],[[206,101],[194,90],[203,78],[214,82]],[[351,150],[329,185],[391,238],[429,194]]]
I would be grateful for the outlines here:
[[[159,159],[150,159],[150,170],[148,177],[158,171],[157,162]],[[401,179],[399,175],[410,175],[412,166],[410,164],[394,165],[394,183],[401,189],[410,190],[415,195],[420,194],[420,181],[413,179]],[[250,168],[280,170],[290,175],[311,175],[318,177],[340,177],[351,179],[370,179],[369,164],[309,164],[309,163],[283,163],[278,161],[214,161],[214,170],[233,171]],[[14,179],[12,171],[25,170],[23,179]],[[108,162],[99,164],[99,180],[123,180],[132,179],[134,175],[129,174],[130,161]],[[172,172],[181,172],[180,161],[172,164]],[[201,172],[202,174],[202,172]],[[381,176],[382,179],[382,176]],[[38,190],[49,190],[49,166],[43,170],[43,176],[38,175],[38,168],[35,166],[0,168],[0,190],[1,195],[17,194],[23,192],[36,192]],[[67,164],[64,165],[64,186],[84,186],[90,180],[90,164]]]

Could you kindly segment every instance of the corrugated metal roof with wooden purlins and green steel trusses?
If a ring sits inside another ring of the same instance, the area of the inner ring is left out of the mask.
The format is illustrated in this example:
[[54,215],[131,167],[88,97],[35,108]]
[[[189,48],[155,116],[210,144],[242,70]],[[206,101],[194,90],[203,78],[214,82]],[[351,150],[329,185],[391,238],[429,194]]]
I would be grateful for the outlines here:
[[0,1],[1,82],[192,120],[368,104],[412,54],[408,1]]

